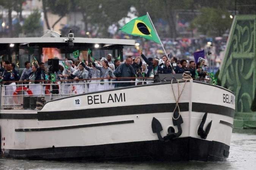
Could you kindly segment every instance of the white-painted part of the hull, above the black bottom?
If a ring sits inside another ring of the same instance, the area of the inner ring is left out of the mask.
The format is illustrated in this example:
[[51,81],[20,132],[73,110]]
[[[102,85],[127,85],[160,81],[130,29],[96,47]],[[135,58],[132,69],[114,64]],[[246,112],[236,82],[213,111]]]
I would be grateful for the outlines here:
[[[180,92],[184,83],[179,83]],[[178,83],[173,83],[176,99],[178,96],[177,85]],[[5,155],[9,150],[159,140],[157,134],[152,132],[152,118],[155,117],[161,123],[162,136],[166,136],[170,126],[177,132],[177,127],[173,126],[172,122],[173,110],[166,111],[163,108],[171,104],[175,105],[175,103],[171,83],[160,83],[52,100],[38,112],[1,110],[1,149]],[[229,146],[232,133],[232,126],[229,125],[233,124],[233,116],[225,113],[225,110],[222,113],[221,109],[234,111],[234,103],[234,94],[224,88],[188,81],[185,83],[179,100],[179,105],[184,104],[183,108],[180,107],[184,123],[181,124],[182,134],[179,138],[201,139],[197,131],[209,106],[204,128],[210,121],[212,121],[212,126],[207,138],[202,140],[216,141]],[[201,108],[193,108],[193,106]],[[116,110],[112,110],[112,108],[116,108]],[[138,111],[134,111],[134,108],[138,108]],[[156,108],[158,111],[152,113],[154,112],[152,110]],[[104,110],[108,113],[104,113]],[[215,110],[216,113],[211,113],[211,110]],[[112,111],[113,113],[111,113]],[[13,114],[34,114],[38,117],[37,119],[8,119],[8,116],[12,117]],[[7,117],[4,118],[5,116]],[[226,122],[226,124],[220,123],[220,121]],[[109,125],[107,124],[109,122],[115,123]],[[118,124],[118,122],[121,123]],[[93,126],[92,124],[98,125]],[[81,127],[78,127],[79,125]]]

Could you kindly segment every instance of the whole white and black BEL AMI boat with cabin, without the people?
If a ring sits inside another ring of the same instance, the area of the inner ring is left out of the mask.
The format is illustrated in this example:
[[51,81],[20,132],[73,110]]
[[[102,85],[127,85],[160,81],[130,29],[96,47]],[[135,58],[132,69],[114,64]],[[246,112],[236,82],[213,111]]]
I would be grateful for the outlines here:
[[[123,47],[135,45],[134,40],[74,38],[72,34],[70,38],[0,39],[0,53],[4,60],[22,63],[32,61],[32,53],[45,61],[48,54],[43,51],[48,48],[60,52],[48,56],[64,60],[77,49],[82,54],[90,49],[95,58],[110,51],[123,57]],[[30,53],[26,59],[19,54],[24,49]],[[150,84],[83,94],[40,94],[36,99],[27,93],[5,96],[6,85],[2,84],[1,156],[48,161],[225,161],[234,93],[179,76],[161,75]],[[87,87],[90,82],[84,84]],[[54,85],[50,84],[51,91]],[[29,91],[24,86],[17,85],[16,91]],[[47,102],[35,109],[33,101],[38,98]]]

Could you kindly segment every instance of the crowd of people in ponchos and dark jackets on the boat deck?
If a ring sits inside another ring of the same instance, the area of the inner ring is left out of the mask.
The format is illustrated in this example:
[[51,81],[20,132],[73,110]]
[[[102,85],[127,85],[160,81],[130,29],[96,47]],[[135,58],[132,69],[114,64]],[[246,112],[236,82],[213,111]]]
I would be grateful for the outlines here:
[[[135,58],[128,56],[124,62],[113,59],[111,54],[108,54],[106,58],[100,58],[100,60],[91,58],[90,63],[82,61],[80,58],[77,61],[66,59],[64,67],[59,65],[59,70],[54,71],[53,74],[55,74],[56,80],[63,80],[56,81],[61,86],[61,94],[72,94],[74,90],[76,94],[82,94],[138,85],[141,83],[136,82],[135,77],[141,77],[139,80],[152,80],[156,74],[182,74],[189,71],[192,78],[195,78],[196,74],[199,77],[207,76],[207,66],[201,57],[196,64],[193,60],[178,61],[176,57],[170,59],[167,56],[162,56],[161,59],[147,58],[141,50],[138,50],[138,53],[140,56]],[[13,81],[24,80],[30,81],[27,86],[33,94],[45,94],[46,85],[41,87],[40,81],[37,80],[49,80],[52,71],[49,71],[49,66],[46,67],[43,62],[35,61],[35,63],[31,67],[29,61],[25,62],[25,69],[19,76],[14,63],[10,63],[8,60],[3,62],[3,68],[0,68],[0,72],[2,72],[0,79],[5,82],[5,85],[9,85],[6,86],[6,95],[12,95],[16,90],[17,82]],[[118,77],[118,79],[112,79],[113,77]],[[148,78],[144,79],[144,77]],[[82,79],[88,79],[88,85],[85,85]]]

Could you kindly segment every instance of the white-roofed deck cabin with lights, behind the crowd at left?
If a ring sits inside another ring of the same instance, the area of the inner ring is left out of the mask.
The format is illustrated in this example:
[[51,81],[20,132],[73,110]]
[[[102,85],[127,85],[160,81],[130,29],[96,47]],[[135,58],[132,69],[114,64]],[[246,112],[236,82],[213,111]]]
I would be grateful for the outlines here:
[[[80,58],[90,61],[107,57],[112,54],[113,58],[121,57],[123,60],[124,46],[135,45],[135,40],[123,39],[91,39],[67,37],[33,37],[33,38],[1,38],[0,39],[0,63],[9,60],[16,64],[19,73],[24,70],[26,61],[33,65],[35,59],[44,62],[47,66],[48,59],[59,59],[60,63],[66,58],[74,59],[73,52],[79,50]],[[88,49],[91,54],[88,55]],[[34,59],[35,57],[35,59]]]

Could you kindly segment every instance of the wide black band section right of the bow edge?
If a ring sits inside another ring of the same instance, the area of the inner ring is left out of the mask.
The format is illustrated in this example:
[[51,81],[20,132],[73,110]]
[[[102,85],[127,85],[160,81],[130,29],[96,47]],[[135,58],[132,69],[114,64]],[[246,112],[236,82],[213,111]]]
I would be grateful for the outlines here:
[[192,102],[192,111],[195,111],[195,112],[208,111],[208,113],[221,114],[221,115],[229,116],[232,118],[234,118],[235,116],[235,110],[230,107],[214,105],[214,104],[206,104],[206,103]]

